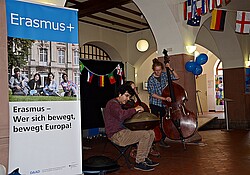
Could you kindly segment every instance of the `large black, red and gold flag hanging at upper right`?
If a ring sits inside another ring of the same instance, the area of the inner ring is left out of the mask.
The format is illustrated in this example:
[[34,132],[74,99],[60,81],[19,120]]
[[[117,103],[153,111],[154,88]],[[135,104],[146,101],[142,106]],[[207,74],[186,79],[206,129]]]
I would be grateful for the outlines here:
[[211,20],[210,29],[216,30],[216,31],[223,31],[225,19],[226,19],[225,10],[214,9],[212,11],[212,20]]

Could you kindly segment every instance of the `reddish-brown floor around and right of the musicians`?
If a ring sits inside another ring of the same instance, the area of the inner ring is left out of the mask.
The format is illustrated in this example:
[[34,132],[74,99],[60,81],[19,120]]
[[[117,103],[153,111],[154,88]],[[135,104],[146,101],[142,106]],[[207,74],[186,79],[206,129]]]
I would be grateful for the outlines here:
[[[170,148],[156,146],[159,158],[150,157],[160,165],[152,172],[129,169],[124,159],[119,159],[121,168],[109,174],[119,175],[249,175],[250,174],[250,131],[209,130],[199,131],[202,141],[187,144],[170,143]],[[108,143],[104,149],[105,143]],[[118,151],[103,137],[83,139],[83,159],[103,155],[115,159]],[[134,161],[131,158],[132,161]]]

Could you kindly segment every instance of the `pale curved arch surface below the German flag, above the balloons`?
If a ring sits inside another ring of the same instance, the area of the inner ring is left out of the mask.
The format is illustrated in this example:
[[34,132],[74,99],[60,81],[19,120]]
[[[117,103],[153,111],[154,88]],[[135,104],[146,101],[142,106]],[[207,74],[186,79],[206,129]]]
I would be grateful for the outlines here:
[[226,22],[225,30],[218,32],[210,30],[210,23],[211,17],[202,24],[195,43],[207,48],[221,59],[224,68],[244,66],[239,39],[232,25]]

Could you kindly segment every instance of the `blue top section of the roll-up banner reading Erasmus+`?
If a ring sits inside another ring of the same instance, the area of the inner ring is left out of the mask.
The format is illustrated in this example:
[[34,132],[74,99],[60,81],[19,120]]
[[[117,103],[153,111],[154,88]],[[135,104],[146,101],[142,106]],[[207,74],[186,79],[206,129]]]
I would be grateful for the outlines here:
[[6,0],[8,36],[78,43],[78,11]]

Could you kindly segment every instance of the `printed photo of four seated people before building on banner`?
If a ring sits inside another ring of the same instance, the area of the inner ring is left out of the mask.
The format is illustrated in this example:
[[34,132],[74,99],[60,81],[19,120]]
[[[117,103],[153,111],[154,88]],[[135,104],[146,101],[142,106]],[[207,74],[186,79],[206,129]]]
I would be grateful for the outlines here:
[[8,37],[10,101],[77,100],[79,46]]

